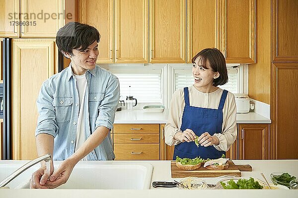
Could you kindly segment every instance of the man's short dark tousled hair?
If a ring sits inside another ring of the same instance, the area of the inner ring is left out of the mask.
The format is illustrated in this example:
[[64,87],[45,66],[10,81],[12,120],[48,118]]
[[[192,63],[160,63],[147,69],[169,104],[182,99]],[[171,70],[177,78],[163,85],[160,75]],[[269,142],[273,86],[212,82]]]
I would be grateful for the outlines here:
[[73,49],[84,51],[95,41],[98,43],[100,34],[98,30],[90,25],[69,22],[60,28],[56,36],[56,44],[62,52],[73,54]]

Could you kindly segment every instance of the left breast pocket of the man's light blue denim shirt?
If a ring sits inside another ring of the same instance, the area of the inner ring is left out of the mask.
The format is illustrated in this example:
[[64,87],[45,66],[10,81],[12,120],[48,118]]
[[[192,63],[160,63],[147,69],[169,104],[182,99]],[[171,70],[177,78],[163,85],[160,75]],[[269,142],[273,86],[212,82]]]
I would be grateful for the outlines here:
[[56,97],[54,98],[52,104],[55,107],[56,122],[70,122],[72,116],[73,98]]

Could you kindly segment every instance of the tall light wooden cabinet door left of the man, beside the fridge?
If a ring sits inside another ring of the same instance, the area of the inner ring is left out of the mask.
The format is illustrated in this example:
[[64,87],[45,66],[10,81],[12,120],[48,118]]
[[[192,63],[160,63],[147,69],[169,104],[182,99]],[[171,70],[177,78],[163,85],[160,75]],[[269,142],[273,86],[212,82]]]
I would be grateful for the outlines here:
[[13,39],[12,53],[12,159],[34,159],[36,99],[58,72],[58,49],[55,39]]

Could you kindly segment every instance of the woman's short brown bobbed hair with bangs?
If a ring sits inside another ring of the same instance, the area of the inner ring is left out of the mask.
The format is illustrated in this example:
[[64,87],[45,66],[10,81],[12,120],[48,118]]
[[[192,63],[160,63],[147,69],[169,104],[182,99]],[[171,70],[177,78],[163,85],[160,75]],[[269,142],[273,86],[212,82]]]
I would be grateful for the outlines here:
[[202,66],[207,69],[207,61],[210,64],[212,71],[219,72],[220,76],[213,80],[213,86],[217,87],[218,85],[224,85],[227,83],[227,69],[225,65],[225,59],[223,53],[216,48],[206,48],[197,53],[192,59],[192,63],[195,63],[195,60],[199,58],[199,62],[202,63]]

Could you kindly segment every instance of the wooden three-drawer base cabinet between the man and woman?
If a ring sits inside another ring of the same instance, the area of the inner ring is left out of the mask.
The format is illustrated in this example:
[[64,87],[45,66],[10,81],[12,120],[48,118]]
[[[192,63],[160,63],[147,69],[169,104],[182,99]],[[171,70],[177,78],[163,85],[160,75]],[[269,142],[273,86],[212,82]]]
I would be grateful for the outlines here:
[[159,124],[114,124],[115,160],[159,160]]

